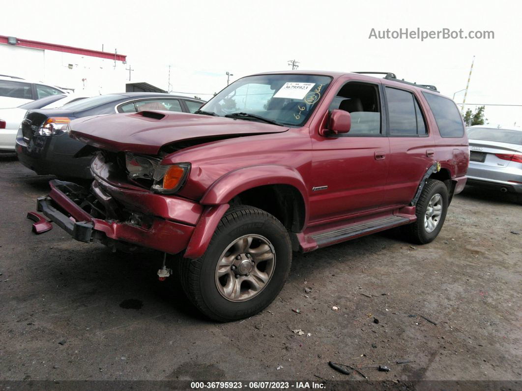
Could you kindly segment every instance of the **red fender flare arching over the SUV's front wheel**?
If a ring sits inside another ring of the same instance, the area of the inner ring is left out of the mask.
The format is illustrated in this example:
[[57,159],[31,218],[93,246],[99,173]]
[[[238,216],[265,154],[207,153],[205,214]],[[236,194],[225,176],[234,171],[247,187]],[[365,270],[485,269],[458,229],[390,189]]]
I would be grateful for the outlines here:
[[308,210],[308,196],[301,174],[294,168],[276,164],[252,165],[223,175],[210,185],[199,203],[201,205],[226,204],[245,190],[265,185],[295,187],[301,193],[305,209]]

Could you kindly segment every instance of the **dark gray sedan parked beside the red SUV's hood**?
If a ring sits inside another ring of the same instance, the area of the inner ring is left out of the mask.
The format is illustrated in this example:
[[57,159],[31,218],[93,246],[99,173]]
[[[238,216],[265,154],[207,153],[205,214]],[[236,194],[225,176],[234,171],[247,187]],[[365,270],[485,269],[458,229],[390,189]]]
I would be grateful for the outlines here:
[[[203,103],[167,93],[127,92],[87,98],[60,109],[31,110],[16,136],[16,152],[20,162],[37,174],[91,179],[90,147],[64,134],[70,121],[91,115],[145,110],[193,113]],[[79,153],[84,147],[85,153]]]

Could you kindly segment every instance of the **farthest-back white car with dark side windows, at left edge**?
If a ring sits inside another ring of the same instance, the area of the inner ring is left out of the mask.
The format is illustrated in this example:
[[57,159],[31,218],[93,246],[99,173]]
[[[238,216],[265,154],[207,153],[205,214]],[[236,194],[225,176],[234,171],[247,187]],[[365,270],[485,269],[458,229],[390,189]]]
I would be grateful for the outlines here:
[[40,82],[0,75],[0,108],[17,107],[23,103],[67,92]]

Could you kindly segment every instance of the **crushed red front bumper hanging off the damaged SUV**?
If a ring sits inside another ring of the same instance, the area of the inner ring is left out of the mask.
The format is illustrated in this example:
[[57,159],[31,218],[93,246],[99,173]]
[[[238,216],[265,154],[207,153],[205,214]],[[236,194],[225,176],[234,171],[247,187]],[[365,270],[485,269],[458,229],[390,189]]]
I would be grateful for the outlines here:
[[[49,184],[49,195],[38,198],[38,211],[80,242],[98,240],[107,243],[109,239],[177,254],[186,248],[195,228],[195,221],[171,221],[167,216],[148,216],[146,226],[129,221],[95,218],[80,207],[82,200],[91,194],[90,191],[70,182],[52,180]],[[105,203],[115,202],[110,195],[105,194],[105,197],[108,197],[104,199]],[[192,204],[174,197],[169,197],[168,201],[174,210],[185,209]],[[161,203],[161,199],[158,202]]]

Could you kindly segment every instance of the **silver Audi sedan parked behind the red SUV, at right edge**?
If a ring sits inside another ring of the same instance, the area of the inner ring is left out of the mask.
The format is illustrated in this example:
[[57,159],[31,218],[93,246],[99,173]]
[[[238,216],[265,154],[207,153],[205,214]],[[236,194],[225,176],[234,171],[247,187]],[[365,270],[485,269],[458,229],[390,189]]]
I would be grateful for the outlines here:
[[522,129],[467,129],[469,138],[468,185],[516,193],[522,202]]

